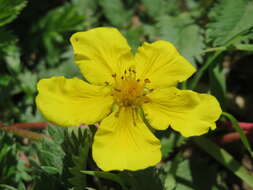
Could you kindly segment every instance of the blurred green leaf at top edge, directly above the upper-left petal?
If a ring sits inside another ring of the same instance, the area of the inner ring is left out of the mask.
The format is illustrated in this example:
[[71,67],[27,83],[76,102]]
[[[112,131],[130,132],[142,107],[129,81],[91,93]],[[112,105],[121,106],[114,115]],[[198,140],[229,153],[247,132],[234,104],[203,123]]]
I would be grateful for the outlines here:
[[125,28],[130,25],[132,10],[125,9],[121,0],[99,0],[99,4],[113,26]]

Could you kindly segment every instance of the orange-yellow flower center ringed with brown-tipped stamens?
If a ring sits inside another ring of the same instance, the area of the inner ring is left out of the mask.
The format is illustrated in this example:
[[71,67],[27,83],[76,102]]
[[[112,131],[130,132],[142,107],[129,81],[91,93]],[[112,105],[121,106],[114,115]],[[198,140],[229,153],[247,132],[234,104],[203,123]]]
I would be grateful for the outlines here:
[[149,79],[136,79],[135,70],[131,68],[125,70],[122,76],[113,74],[112,77],[115,79],[112,96],[118,106],[137,107],[149,102],[146,96],[148,92],[152,91],[146,88],[146,84],[150,82]]

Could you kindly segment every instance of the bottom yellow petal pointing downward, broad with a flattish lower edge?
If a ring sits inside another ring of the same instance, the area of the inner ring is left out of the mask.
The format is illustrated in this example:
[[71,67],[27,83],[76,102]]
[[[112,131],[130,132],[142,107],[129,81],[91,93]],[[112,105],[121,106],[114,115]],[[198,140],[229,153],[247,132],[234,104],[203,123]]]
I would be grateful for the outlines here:
[[139,170],[161,160],[160,142],[131,108],[105,118],[95,134],[92,154],[104,171]]

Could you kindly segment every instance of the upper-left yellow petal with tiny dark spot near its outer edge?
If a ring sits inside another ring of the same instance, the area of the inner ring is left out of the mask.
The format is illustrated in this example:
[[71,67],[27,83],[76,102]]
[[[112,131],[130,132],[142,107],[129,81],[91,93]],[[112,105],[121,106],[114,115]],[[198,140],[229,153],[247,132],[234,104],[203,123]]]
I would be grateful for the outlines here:
[[132,57],[126,39],[115,28],[100,27],[77,32],[70,38],[76,64],[85,78],[94,84],[113,83],[112,74]]

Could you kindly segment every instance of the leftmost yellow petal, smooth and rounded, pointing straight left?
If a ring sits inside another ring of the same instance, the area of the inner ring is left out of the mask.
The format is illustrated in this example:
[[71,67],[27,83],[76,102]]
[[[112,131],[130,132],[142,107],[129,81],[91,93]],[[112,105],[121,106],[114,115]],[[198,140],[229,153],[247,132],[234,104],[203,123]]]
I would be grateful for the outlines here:
[[113,99],[108,90],[78,78],[52,77],[38,82],[36,104],[41,113],[57,125],[93,124],[111,111]]

